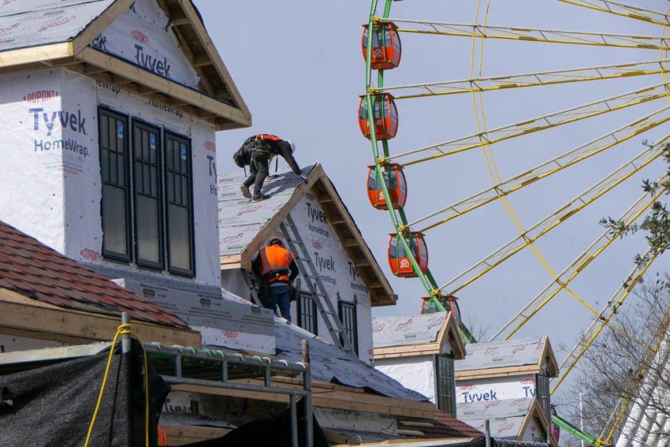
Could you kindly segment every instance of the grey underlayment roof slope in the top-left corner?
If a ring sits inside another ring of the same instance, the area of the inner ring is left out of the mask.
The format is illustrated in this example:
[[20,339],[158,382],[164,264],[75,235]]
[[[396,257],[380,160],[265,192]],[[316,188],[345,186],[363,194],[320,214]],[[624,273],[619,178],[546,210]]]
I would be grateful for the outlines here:
[[4,0],[0,2],[0,51],[66,42],[114,0]]

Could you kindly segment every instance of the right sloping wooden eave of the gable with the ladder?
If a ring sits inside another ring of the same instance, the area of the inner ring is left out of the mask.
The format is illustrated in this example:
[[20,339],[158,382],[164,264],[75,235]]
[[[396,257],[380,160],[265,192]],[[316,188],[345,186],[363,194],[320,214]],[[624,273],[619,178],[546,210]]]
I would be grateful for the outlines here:
[[[385,277],[384,272],[382,272],[382,269],[377,263],[377,260],[370,251],[370,247],[368,247],[368,244],[366,244],[365,240],[363,239],[363,235],[359,232],[353,217],[351,216],[351,214],[349,214],[349,211],[342,202],[342,199],[338,195],[335,186],[332,184],[327,175],[325,175],[325,172],[321,168],[321,165],[317,165],[317,168],[319,170],[319,177],[322,186],[328,193],[329,205],[334,205],[338,214],[341,217],[341,220],[343,221],[343,223],[346,223],[353,239],[357,242],[357,246],[363,252],[363,256],[368,263],[366,267],[372,270],[374,276],[377,277],[379,283],[382,284],[383,286],[384,293],[382,294],[377,292],[375,293],[375,295],[377,295],[378,297],[383,296],[387,299],[386,300],[378,299],[377,302],[372,302],[372,306],[377,307],[377,306],[395,305],[398,296],[393,293],[393,289],[391,288],[388,279]],[[347,249],[345,246],[347,240],[340,240],[340,242],[343,245],[343,247]],[[366,286],[368,287],[368,289],[370,290],[372,289],[370,287],[370,284],[366,284]]]

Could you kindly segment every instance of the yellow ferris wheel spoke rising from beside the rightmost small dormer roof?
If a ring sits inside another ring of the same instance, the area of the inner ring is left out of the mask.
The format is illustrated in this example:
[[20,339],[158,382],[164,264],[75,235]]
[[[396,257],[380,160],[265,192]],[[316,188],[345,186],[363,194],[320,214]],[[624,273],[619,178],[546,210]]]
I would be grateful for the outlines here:
[[556,383],[553,383],[551,394],[553,394],[558,386],[563,383],[565,377],[570,374],[575,365],[581,360],[584,353],[586,353],[593,342],[595,342],[595,339],[600,335],[600,332],[602,332],[605,326],[610,324],[611,319],[616,315],[619,307],[623,305],[626,298],[628,298],[637,283],[639,283],[648,268],[650,268],[654,261],[656,261],[656,258],[659,255],[660,252],[653,252],[652,249],[648,249],[643,256],[643,259],[646,259],[647,261],[640,265],[636,265],[632,272],[628,274],[625,281],[619,286],[612,298],[609,299],[597,318],[593,320],[593,323],[591,323],[586,332],[580,337],[579,342],[577,342],[574,348],[572,348],[572,351],[570,351],[563,362],[561,362],[560,367],[558,368],[561,374],[560,377],[556,379]]

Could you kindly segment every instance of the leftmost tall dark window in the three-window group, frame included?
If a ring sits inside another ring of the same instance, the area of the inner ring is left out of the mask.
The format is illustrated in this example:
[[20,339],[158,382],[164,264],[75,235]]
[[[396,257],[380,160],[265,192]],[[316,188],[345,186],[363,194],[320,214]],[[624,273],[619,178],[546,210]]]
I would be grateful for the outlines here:
[[128,184],[128,119],[101,108],[98,114],[103,256],[131,261]]

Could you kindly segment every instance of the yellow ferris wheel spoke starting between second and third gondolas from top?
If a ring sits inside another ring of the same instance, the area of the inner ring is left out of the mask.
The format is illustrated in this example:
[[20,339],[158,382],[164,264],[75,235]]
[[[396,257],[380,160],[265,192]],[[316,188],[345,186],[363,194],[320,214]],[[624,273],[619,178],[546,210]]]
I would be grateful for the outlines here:
[[[661,84],[652,85],[650,87],[636,89],[627,93],[604,98],[600,101],[593,101],[591,103],[577,105],[575,107],[560,110],[558,112],[525,119],[521,122],[507,124],[505,126],[496,127],[494,129],[489,129],[481,133],[474,133],[472,135],[455,138],[454,140],[440,142],[436,145],[421,147],[419,149],[410,150],[408,152],[402,152],[401,154],[389,156],[388,160],[396,160],[400,159],[401,157],[419,154],[421,152],[433,152],[433,155],[430,156],[414,159],[412,161],[401,162],[404,166],[412,166],[417,163],[439,159],[443,156],[458,154],[460,152],[465,152],[477,147],[491,145],[493,143],[505,140],[511,140],[512,138],[519,138],[530,133],[545,131],[547,129],[552,129],[554,127],[563,126],[565,124],[597,117],[606,113],[616,112],[617,110],[623,110],[625,108],[634,107],[635,105],[666,98],[668,96],[666,90],[667,85],[669,85],[669,82],[663,82]],[[387,161],[387,159],[380,159],[380,163],[385,161]]]

